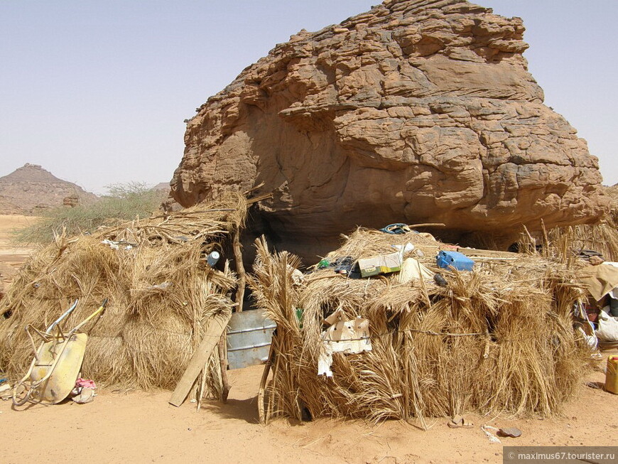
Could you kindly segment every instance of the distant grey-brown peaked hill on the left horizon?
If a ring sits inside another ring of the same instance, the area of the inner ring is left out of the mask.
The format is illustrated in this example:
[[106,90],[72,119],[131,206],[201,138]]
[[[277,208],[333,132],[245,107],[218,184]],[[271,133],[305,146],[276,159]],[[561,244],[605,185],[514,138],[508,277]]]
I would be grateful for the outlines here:
[[92,203],[97,195],[55,177],[38,164],[26,163],[0,177],[0,214],[36,215],[62,205]]

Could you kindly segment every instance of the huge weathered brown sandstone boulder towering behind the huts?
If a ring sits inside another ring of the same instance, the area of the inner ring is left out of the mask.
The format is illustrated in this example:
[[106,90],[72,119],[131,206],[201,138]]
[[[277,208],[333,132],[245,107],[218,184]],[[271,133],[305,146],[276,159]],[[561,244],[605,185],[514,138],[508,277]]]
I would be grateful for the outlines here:
[[543,105],[523,33],[465,0],[386,0],[300,31],[190,119],[172,194],[188,206],[264,183],[254,228],[288,249],[355,225],[595,220],[609,204],[597,158]]

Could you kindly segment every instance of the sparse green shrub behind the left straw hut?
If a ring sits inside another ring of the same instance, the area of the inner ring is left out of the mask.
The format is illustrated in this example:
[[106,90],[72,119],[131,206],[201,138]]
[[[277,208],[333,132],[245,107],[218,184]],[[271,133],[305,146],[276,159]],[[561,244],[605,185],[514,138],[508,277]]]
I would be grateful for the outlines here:
[[16,242],[48,243],[63,229],[68,236],[92,232],[102,225],[150,217],[166,199],[166,192],[131,182],[108,185],[107,195],[89,205],[46,210],[35,224],[13,235]]

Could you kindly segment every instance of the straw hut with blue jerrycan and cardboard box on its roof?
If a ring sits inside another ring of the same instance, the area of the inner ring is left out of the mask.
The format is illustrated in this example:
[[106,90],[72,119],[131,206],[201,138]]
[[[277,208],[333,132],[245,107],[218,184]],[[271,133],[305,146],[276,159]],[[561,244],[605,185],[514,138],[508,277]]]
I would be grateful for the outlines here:
[[[440,243],[415,233],[357,230],[329,258],[387,254],[412,242],[435,271]],[[477,262],[475,271],[440,269],[433,281],[399,284],[396,275],[347,279],[315,271],[298,286],[296,257],[256,242],[251,286],[277,323],[273,374],[264,416],[335,416],[380,421],[430,416],[540,414],[560,411],[584,372],[589,352],[573,331],[582,296],[565,265],[521,255]],[[479,260],[480,261],[480,260]],[[296,308],[302,308],[302,328]],[[332,355],[333,377],[318,377],[320,334],[337,308],[369,319],[372,350]],[[305,411],[305,412],[306,412]]]

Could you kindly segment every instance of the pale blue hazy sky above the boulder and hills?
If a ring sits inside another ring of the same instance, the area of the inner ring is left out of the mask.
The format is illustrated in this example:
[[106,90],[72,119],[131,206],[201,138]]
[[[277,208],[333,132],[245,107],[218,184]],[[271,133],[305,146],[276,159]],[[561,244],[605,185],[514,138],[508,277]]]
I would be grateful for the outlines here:
[[[276,43],[378,0],[0,0],[0,176],[37,163],[87,190],[170,180],[188,119]],[[484,0],[524,18],[546,104],[618,183],[617,0]]]

